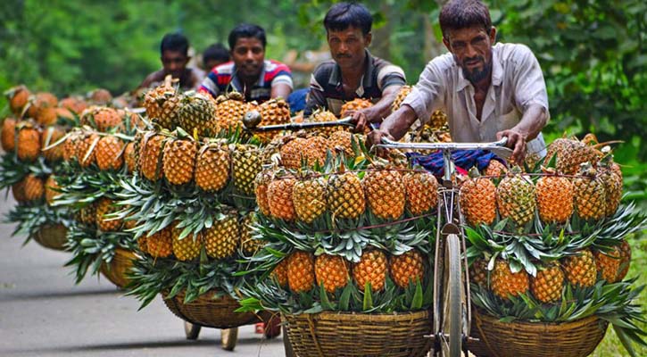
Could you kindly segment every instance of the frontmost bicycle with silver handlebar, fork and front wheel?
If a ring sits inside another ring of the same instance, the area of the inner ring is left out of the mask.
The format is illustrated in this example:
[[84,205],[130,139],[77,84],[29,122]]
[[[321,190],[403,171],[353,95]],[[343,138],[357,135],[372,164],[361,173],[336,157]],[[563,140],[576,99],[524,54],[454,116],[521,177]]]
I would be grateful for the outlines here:
[[[460,351],[452,349],[451,339],[445,331],[446,320],[452,319],[452,316],[444,309],[448,308],[449,303],[445,301],[451,293],[446,291],[452,286],[445,286],[446,281],[451,281],[448,275],[448,262],[445,262],[450,253],[446,251],[447,239],[452,236],[458,236],[460,242],[460,296],[461,304],[460,309],[461,326],[460,326],[460,341],[459,347],[463,353],[467,355],[467,345],[470,340],[469,328],[471,325],[471,300],[469,291],[469,274],[468,259],[465,252],[467,246],[465,242],[465,233],[463,231],[463,216],[460,211],[460,203],[458,200],[459,189],[454,186],[452,176],[455,174],[455,166],[452,162],[452,151],[454,150],[475,150],[475,149],[502,149],[507,143],[507,137],[494,143],[399,143],[389,139],[383,139],[380,147],[397,148],[397,149],[418,149],[418,150],[441,150],[443,153],[443,168],[444,174],[442,185],[438,188],[438,206],[437,206],[437,229],[435,239],[435,261],[434,261],[434,335],[430,336],[434,339],[434,355],[445,355],[444,350],[450,351],[453,355],[460,355]],[[505,149],[510,150],[510,149]],[[507,153],[507,152],[506,152]],[[510,151],[511,153],[511,151]],[[449,263],[451,264],[451,263]],[[455,287],[454,287],[455,288]],[[454,323],[459,320],[459,317],[454,317]],[[451,326],[450,322],[450,326]],[[454,327],[456,328],[456,327]],[[456,329],[454,329],[456,331]],[[445,348],[443,349],[443,344]],[[455,346],[453,347],[456,348]]]

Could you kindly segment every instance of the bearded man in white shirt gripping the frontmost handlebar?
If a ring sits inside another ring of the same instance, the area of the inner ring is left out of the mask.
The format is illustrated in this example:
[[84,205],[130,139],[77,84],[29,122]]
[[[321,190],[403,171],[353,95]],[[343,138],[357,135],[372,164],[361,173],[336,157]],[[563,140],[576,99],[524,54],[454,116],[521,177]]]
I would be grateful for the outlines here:
[[400,139],[418,118],[428,120],[442,109],[455,142],[508,137],[514,162],[527,154],[545,156],[541,130],[550,114],[535,55],[524,45],[495,45],[490,12],[479,0],[450,1],[439,21],[449,54],[427,63],[400,109],[369,134],[369,145],[382,137]]

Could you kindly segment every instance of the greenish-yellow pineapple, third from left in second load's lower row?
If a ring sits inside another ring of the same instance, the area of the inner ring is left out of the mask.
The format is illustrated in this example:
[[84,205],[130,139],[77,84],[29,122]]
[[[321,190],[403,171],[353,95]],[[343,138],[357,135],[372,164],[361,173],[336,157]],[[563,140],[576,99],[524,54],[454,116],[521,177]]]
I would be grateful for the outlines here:
[[212,228],[202,231],[207,255],[214,259],[225,259],[236,253],[240,240],[240,227],[236,212],[227,212],[221,220],[213,222]]

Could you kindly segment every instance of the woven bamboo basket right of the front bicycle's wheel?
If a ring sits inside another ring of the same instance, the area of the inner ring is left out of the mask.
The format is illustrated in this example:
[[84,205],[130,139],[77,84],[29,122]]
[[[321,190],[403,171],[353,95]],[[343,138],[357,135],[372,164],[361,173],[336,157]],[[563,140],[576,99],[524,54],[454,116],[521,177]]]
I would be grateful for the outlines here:
[[502,322],[476,312],[474,319],[476,328],[470,335],[482,342],[473,351],[479,357],[588,356],[600,344],[609,325],[595,316],[563,323],[531,323]]

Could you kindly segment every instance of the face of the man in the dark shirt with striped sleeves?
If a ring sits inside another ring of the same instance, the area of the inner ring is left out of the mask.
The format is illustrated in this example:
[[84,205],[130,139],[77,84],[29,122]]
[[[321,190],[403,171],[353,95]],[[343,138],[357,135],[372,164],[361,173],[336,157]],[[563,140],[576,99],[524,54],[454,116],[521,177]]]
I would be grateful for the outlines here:
[[364,63],[364,49],[370,45],[370,32],[364,36],[353,26],[341,31],[328,30],[328,46],[335,62],[342,70],[357,68]]

